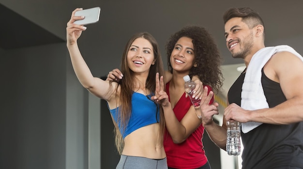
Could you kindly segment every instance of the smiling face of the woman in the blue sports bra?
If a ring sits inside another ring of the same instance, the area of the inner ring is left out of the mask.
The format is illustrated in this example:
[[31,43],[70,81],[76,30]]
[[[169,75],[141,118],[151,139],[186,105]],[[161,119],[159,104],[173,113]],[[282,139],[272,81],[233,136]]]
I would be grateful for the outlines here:
[[144,38],[137,38],[127,52],[127,63],[135,73],[148,74],[154,64],[152,44]]

